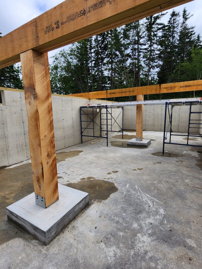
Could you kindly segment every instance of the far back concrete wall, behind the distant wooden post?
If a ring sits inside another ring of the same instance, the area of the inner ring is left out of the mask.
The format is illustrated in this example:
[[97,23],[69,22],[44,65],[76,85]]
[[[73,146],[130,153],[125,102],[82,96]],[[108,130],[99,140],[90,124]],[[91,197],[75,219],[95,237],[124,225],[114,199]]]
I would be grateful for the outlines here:
[[[173,108],[172,129],[173,132],[187,132],[189,121],[189,106],[175,106]],[[200,112],[201,105],[193,105],[191,111]],[[191,119],[200,119],[201,114],[191,114]],[[143,115],[143,130],[163,131],[165,118],[165,105],[145,105]],[[169,121],[167,110],[166,122]],[[196,121],[197,123],[199,121]],[[192,125],[193,126],[193,125]],[[167,127],[167,126],[166,126]],[[201,129],[192,128],[190,132],[199,133]],[[124,129],[136,129],[136,106],[124,107]]]

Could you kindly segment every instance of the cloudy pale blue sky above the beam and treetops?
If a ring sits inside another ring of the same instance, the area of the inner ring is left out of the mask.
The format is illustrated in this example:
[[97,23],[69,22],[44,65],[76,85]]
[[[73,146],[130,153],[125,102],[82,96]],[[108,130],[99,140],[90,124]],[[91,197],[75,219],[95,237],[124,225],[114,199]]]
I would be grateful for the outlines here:
[[[33,18],[39,16],[41,13],[47,11],[50,8],[58,5],[63,1],[61,0],[6,0],[2,2],[0,8],[0,32],[2,36],[8,34],[12,30],[18,28],[22,24],[32,20]],[[187,4],[178,6],[175,10],[182,12],[183,8],[186,7],[188,12],[194,14],[190,20],[189,24],[196,26],[196,34],[202,36],[202,5],[201,0],[194,0]],[[169,17],[169,13],[172,10],[168,10],[168,14],[163,18],[163,22],[166,22]],[[65,48],[65,47],[63,47]],[[60,48],[61,49],[61,48]],[[48,52],[49,62],[51,63],[51,56],[58,52],[60,49],[55,49]]]

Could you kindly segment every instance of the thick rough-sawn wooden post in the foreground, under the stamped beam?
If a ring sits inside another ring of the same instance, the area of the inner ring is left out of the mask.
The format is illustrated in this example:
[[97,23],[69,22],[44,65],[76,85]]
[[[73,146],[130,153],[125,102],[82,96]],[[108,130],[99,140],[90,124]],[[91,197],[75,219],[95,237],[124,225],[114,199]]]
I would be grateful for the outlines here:
[[58,200],[48,54],[30,49],[20,54],[20,61],[36,203],[48,207]]

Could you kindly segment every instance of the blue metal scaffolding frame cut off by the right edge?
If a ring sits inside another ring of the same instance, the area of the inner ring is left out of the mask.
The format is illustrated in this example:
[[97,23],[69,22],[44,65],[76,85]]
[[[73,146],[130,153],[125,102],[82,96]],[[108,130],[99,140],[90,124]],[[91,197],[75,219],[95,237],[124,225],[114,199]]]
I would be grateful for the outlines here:
[[[189,120],[188,120],[188,132],[186,134],[172,134],[172,115],[173,115],[173,109],[176,105],[189,105]],[[189,144],[189,137],[202,137],[201,134],[199,133],[191,133],[190,129],[196,128],[192,127],[190,125],[199,125],[201,127],[197,127],[198,129],[202,129],[202,118],[201,119],[191,119],[192,114],[202,114],[202,112],[193,112],[191,111],[191,107],[193,105],[202,105],[202,101],[184,101],[184,102],[166,102],[165,103],[165,119],[164,119],[164,131],[163,131],[163,154],[164,154],[164,148],[165,144],[173,144],[173,145],[182,145],[182,146],[194,146],[194,147],[202,147],[202,145],[194,145],[194,144]],[[170,108],[170,109],[169,109]],[[169,115],[169,122],[168,122],[168,127],[166,130],[166,116],[167,116],[167,110],[168,110],[168,115]],[[199,121],[199,122],[192,122],[192,121]],[[167,134],[168,134],[168,129],[170,127],[170,135],[169,135],[169,142],[167,141]],[[171,136],[187,136],[187,143],[182,144],[182,143],[172,143],[171,142]]]

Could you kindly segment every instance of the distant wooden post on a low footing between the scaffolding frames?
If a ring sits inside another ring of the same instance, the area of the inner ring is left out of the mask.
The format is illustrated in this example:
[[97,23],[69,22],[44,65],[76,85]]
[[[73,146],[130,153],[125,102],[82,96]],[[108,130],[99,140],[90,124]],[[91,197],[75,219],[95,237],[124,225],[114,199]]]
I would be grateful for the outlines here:
[[[144,95],[137,95],[137,101],[143,101]],[[143,139],[143,105],[136,106],[136,140]]]

